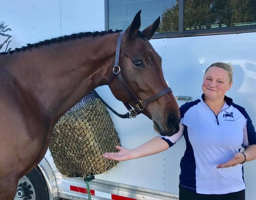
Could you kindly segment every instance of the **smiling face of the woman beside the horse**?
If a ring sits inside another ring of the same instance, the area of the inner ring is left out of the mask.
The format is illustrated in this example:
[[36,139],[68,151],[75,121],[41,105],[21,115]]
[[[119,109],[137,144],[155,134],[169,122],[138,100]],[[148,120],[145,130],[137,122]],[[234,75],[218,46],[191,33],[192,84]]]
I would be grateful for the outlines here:
[[202,84],[202,90],[205,94],[205,98],[209,100],[224,99],[226,92],[232,86],[229,83],[228,72],[219,67],[210,67],[204,74],[204,81]]

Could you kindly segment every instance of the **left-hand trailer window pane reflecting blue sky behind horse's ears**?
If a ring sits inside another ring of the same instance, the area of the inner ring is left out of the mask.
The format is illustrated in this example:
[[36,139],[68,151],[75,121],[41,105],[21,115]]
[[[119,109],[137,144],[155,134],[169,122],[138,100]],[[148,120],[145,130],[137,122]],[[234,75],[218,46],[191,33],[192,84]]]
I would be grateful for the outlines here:
[[[142,10],[141,13],[141,28],[143,30],[148,25],[152,24],[164,10],[168,10],[176,6],[176,0],[108,0],[108,27],[107,29],[122,29],[125,30],[132,22],[135,14]],[[175,16],[174,16],[175,15]],[[178,24],[169,30],[166,23],[170,23],[173,18],[178,19],[178,12],[164,17],[162,29],[158,31],[163,32],[177,32]],[[174,23],[175,23],[174,22]]]

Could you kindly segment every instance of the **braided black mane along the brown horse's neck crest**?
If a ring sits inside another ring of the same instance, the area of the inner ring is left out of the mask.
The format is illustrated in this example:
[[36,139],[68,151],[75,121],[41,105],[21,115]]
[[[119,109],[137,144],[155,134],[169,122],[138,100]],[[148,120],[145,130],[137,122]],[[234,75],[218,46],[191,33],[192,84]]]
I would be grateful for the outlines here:
[[[37,42],[37,43],[34,43],[34,44],[27,44],[27,46],[22,46],[21,48],[15,48],[15,50],[10,50],[9,52],[0,52],[0,55],[13,54],[14,52],[24,51],[24,50],[27,50],[27,49],[37,48],[39,46],[49,45],[49,44],[52,44],[52,43],[67,41],[67,40],[71,40],[71,39],[74,40],[74,39],[77,39],[77,38],[84,38],[84,37],[103,36],[105,34],[118,33],[118,32],[121,32],[121,31],[122,30],[112,31],[112,29],[110,29],[108,31],[101,31],[101,32],[98,32],[98,31],[95,31],[95,32],[80,32],[80,33],[71,34],[71,35],[68,35],[68,36],[60,36],[58,38],[52,38],[50,40],[44,40],[44,41]],[[145,36],[140,31],[138,31],[137,35],[140,38],[145,38]]]

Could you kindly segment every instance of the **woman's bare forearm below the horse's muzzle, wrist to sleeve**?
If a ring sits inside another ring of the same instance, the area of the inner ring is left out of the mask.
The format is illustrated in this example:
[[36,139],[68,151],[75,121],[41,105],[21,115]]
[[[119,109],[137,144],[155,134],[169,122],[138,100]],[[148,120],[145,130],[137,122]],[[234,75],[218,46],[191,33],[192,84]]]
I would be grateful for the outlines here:
[[141,158],[144,156],[150,156],[153,154],[157,154],[164,150],[167,150],[169,145],[160,137],[155,137],[149,140],[148,142],[138,146],[132,150],[130,150],[131,159]]

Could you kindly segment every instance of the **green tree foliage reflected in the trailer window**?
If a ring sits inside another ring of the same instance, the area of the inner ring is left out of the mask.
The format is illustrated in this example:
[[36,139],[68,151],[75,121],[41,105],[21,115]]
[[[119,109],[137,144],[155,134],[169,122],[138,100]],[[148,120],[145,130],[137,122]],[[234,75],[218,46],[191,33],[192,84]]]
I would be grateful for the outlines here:
[[[178,31],[179,4],[165,7],[158,32]],[[184,30],[256,24],[256,0],[184,0]]]

